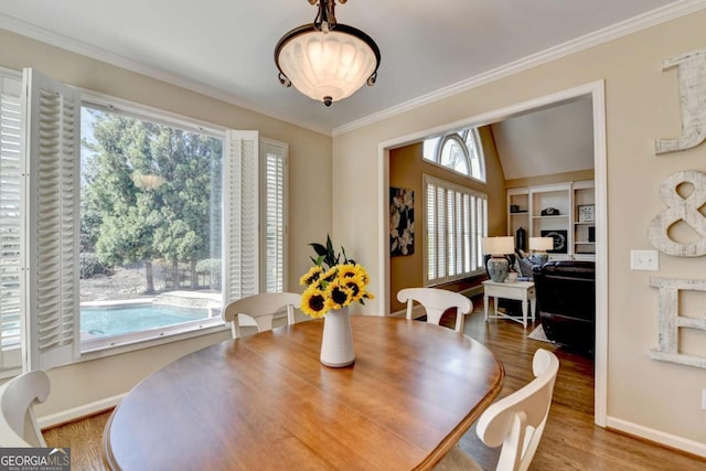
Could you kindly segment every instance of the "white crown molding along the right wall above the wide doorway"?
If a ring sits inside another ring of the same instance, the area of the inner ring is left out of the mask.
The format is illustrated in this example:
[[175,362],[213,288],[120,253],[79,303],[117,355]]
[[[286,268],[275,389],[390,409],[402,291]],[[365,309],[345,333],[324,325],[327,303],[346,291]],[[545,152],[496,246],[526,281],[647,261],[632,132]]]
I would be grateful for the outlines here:
[[575,40],[565,42],[563,44],[546,49],[536,54],[525,56],[485,73],[472,76],[461,82],[457,82],[456,84],[451,84],[447,87],[439,88],[438,90],[410,99],[400,105],[393,106],[381,113],[376,113],[374,115],[366,116],[365,118],[349,122],[347,125],[340,126],[333,129],[332,135],[335,137],[345,132],[350,132],[354,129],[359,129],[364,126],[392,118],[396,115],[400,115],[415,108],[419,108],[421,106],[438,101],[442,98],[447,98],[452,95],[480,87],[481,85],[485,85],[500,78],[516,74],[518,72],[536,67],[541,64],[545,64],[547,62],[552,62],[557,58],[565,57],[567,55],[575,54],[577,52],[585,51],[600,44],[605,44],[607,42],[627,36],[632,33],[637,33],[642,30],[646,30],[648,28],[652,28],[656,24],[661,24],[670,20],[685,17],[695,11],[703,10],[704,8],[706,8],[706,0],[682,0],[680,2],[649,11],[646,13],[631,18],[620,23],[616,23],[602,30],[598,30]]

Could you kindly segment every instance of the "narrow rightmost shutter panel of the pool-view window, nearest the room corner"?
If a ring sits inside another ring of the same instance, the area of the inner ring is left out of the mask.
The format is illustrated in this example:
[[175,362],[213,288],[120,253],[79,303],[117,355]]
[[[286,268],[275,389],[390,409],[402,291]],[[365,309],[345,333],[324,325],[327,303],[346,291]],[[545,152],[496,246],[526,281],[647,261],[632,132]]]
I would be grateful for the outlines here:
[[265,292],[281,292],[287,289],[287,171],[288,146],[267,139],[260,141],[263,163],[261,221],[261,274],[260,285]]

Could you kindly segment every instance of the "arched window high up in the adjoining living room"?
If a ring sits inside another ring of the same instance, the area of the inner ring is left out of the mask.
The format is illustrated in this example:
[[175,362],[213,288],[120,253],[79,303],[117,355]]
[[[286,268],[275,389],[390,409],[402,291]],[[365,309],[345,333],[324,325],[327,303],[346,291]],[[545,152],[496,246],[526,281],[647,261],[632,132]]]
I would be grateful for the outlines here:
[[485,181],[483,150],[475,128],[426,139],[422,157],[466,176]]

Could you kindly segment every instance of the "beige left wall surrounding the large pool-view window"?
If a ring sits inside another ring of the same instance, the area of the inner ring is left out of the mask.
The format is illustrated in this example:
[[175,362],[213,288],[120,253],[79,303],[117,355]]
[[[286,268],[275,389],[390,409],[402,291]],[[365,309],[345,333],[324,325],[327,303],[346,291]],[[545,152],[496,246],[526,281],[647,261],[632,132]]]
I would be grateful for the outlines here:
[[[300,291],[299,276],[310,265],[307,244],[324,239],[331,231],[330,137],[3,30],[0,30],[0,66],[17,71],[34,67],[85,89],[231,129],[256,129],[263,137],[289,143],[289,289]],[[317,213],[311,217],[314,202]],[[228,336],[229,332],[222,332],[52,370],[52,393],[39,415],[60,413],[126,393],[160,366]]]

